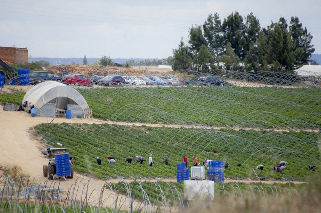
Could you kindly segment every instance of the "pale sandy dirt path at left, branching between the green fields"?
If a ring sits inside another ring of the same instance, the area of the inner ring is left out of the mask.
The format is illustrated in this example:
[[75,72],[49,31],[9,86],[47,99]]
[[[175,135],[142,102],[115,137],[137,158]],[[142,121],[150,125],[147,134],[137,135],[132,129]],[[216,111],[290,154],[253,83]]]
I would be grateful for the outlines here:
[[[44,144],[41,144],[36,138],[30,134],[30,129],[41,123],[96,123],[96,124],[119,124],[119,125],[146,125],[143,123],[124,123],[124,122],[111,122],[96,119],[78,119],[71,118],[46,118],[46,117],[31,117],[30,114],[22,111],[5,111],[3,106],[0,106],[0,167],[14,167],[19,166],[22,172],[31,177],[38,177],[40,181],[45,182],[47,178],[43,177],[42,166],[48,164],[48,159],[43,157],[41,150],[45,150]],[[172,127],[180,128],[179,125],[164,125],[164,124],[148,124],[154,127]],[[190,126],[193,128],[216,128],[216,127],[202,127]],[[217,127],[218,128],[218,127]],[[1,172],[1,171],[0,171]],[[0,173],[1,175],[1,173]],[[81,174],[75,173],[74,180],[81,178],[89,180],[90,178]],[[103,186],[105,181],[94,180],[97,186]],[[114,179],[112,182],[119,182],[120,179]],[[132,180],[126,180],[132,181]],[[157,181],[157,180],[151,180]],[[173,181],[175,179],[163,180]],[[236,180],[226,180],[231,182]],[[242,182],[258,182],[252,180],[242,180]],[[268,181],[264,181],[264,183]],[[272,181],[273,182],[273,181]],[[100,188],[101,189],[101,188]]]

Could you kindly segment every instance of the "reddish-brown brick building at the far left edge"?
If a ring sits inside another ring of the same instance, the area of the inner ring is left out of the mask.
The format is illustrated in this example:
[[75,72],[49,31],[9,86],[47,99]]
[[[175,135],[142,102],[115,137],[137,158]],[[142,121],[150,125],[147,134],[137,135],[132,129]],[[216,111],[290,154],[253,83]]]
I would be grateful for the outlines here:
[[14,64],[26,64],[28,63],[28,49],[0,47],[0,59]]

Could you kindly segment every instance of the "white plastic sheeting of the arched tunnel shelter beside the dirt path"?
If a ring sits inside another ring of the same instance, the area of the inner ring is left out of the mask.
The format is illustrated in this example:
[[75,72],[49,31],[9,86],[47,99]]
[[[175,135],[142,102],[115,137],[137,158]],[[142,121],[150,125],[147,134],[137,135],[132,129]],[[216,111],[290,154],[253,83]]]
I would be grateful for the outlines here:
[[[85,98],[77,90],[57,81],[45,81],[31,88],[22,103],[34,105],[37,116],[55,117],[55,110],[74,109],[74,118],[83,117],[83,109],[89,108]],[[81,113],[80,113],[81,111]],[[72,112],[73,113],[73,112]]]

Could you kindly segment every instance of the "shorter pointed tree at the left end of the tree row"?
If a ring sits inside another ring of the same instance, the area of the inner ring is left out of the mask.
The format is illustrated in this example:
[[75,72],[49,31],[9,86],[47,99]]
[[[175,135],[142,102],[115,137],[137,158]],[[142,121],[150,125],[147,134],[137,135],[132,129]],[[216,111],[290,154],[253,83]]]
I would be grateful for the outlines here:
[[173,62],[175,61],[175,70],[190,69],[192,67],[192,53],[189,51],[189,48],[183,42],[183,38],[180,41],[178,49],[173,50],[173,54]]

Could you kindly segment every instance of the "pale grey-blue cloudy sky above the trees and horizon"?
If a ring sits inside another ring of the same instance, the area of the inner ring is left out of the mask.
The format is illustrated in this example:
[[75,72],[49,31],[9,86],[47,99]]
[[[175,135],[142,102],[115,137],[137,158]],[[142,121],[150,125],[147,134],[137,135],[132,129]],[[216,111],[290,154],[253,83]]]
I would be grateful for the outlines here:
[[321,54],[320,0],[0,0],[0,46],[32,57],[167,58],[209,14],[299,18]]

